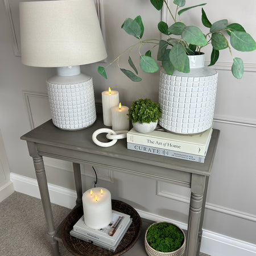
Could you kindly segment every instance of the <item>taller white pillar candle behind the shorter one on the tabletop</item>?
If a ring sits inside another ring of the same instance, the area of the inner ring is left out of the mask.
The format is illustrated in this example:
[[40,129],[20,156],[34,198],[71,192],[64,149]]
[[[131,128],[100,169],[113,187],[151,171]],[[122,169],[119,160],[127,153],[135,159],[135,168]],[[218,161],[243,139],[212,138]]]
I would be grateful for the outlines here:
[[119,92],[117,90],[105,90],[101,93],[103,122],[106,126],[112,126],[111,108],[119,104]]

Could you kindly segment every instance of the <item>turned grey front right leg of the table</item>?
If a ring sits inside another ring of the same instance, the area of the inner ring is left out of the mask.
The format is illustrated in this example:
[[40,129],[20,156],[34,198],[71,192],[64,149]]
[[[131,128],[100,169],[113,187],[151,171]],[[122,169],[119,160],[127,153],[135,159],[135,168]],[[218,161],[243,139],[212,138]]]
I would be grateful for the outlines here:
[[191,181],[191,200],[188,216],[188,243],[186,248],[187,256],[196,256],[198,246],[198,236],[201,233],[200,222],[203,207],[204,191],[206,177],[202,175],[192,174]]

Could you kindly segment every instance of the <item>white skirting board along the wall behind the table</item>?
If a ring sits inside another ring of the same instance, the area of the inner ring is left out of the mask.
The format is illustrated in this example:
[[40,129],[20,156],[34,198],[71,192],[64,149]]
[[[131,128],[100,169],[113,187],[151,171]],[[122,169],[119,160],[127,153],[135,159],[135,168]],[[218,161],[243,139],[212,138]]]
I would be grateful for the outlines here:
[[[15,191],[40,199],[40,192],[36,179],[31,179],[30,177],[21,176],[14,173],[11,173],[10,179],[13,182]],[[49,196],[53,204],[61,205],[69,209],[72,209],[75,206],[75,191],[53,184],[48,184],[48,189]],[[164,218],[162,216],[144,212],[138,209],[137,212],[142,218],[147,218],[148,220],[152,221],[170,221],[180,226],[182,229],[187,229],[187,224],[182,222],[177,222],[175,220]],[[222,234],[210,232],[209,230],[203,230],[200,251],[212,256],[255,256],[256,245],[237,240],[232,237],[223,236]]]

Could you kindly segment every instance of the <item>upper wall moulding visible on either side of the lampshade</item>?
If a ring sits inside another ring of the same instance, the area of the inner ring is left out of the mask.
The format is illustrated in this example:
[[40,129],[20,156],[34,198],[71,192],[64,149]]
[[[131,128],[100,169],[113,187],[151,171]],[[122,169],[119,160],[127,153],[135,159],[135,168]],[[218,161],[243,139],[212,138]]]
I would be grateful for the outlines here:
[[[11,35],[13,37],[13,51],[15,56],[21,56],[20,51],[20,31],[19,31],[19,2],[23,0],[3,0],[5,5],[7,17],[10,23]],[[98,19],[100,21],[101,31],[106,43],[106,33],[105,33],[105,21],[104,21],[104,8],[103,0],[94,0],[96,5],[96,10],[98,13]],[[104,60],[105,61],[105,60]]]

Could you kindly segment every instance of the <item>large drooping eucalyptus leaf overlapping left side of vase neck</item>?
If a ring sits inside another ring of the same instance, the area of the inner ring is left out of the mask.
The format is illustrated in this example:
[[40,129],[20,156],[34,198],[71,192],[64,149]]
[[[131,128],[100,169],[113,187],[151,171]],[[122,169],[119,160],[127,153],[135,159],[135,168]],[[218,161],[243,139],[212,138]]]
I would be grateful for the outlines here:
[[184,72],[186,69],[185,64],[188,56],[183,44],[179,43],[172,47],[169,56],[172,65],[174,65],[174,68],[177,69],[177,71]]

